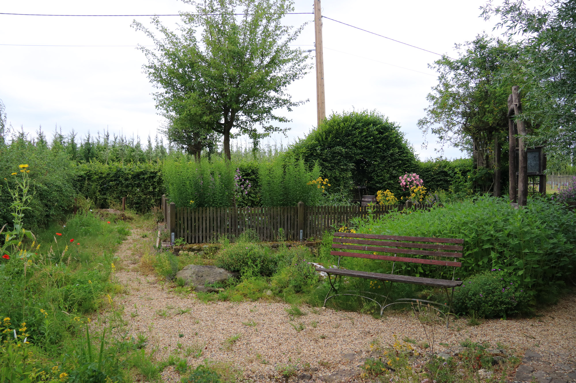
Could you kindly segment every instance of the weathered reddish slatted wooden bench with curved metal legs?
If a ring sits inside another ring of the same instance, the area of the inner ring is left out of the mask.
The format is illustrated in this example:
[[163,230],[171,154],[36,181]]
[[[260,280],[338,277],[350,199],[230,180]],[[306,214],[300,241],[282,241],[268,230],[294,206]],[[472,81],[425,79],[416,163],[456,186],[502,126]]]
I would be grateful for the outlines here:
[[[461,262],[457,262],[457,258],[461,258],[463,251],[463,239],[457,238],[425,238],[425,237],[406,237],[398,235],[376,235],[376,234],[362,234],[362,233],[334,233],[334,240],[332,243],[332,250],[330,255],[338,256],[338,266],[336,268],[323,269],[320,267],[316,268],[316,271],[323,271],[328,274],[328,281],[330,282],[330,289],[324,298],[324,306],[326,302],[333,297],[341,295],[353,295],[363,298],[367,298],[376,302],[380,306],[380,316],[384,309],[391,304],[386,305],[388,300],[389,291],[387,296],[382,296],[380,294],[372,292],[362,292],[361,294],[350,294],[350,290],[346,292],[338,292],[338,289],[334,286],[330,274],[335,275],[335,279],[338,276],[343,277],[357,277],[366,279],[377,279],[380,281],[391,282],[390,288],[393,282],[402,282],[406,284],[416,284],[416,285],[426,285],[443,288],[446,290],[446,295],[450,304],[448,305],[448,312],[452,309],[452,297],[454,296],[454,288],[456,286],[462,285],[461,281],[454,281],[454,274],[456,272],[456,267],[462,265]],[[346,250],[354,250],[356,252],[350,252]],[[365,251],[365,252],[359,252]],[[388,255],[389,253],[392,253]],[[368,271],[357,271],[357,270],[346,270],[340,269],[340,259],[343,256],[354,256],[356,258],[366,258],[366,259],[380,259],[382,261],[392,261],[392,273],[382,274],[382,273],[370,273]],[[437,259],[421,258],[422,256],[433,257]],[[441,258],[452,258],[452,261],[442,261]],[[396,262],[409,262],[409,263],[421,263],[423,265],[437,265],[453,267],[452,279],[435,279],[435,278],[422,278],[422,277],[410,277],[407,275],[394,274],[394,266]],[[448,289],[452,288],[452,294],[448,293]],[[334,290],[335,294],[330,295]],[[384,302],[374,298],[367,297],[366,294],[372,294],[373,296],[378,296],[384,298]],[[403,302],[415,301],[408,298],[403,298]],[[437,302],[423,301],[432,304],[437,304]],[[395,302],[399,303],[399,302]],[[448,321],[446,322],[448,325]]]

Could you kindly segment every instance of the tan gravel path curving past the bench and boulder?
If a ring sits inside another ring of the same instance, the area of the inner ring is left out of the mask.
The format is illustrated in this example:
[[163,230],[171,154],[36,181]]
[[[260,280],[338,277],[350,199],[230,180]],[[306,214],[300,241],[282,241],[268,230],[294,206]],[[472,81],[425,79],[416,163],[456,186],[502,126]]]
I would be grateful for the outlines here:
[[[117,252],[123,270],[116,277],[128,290],[117,301],[124,305],[124,319],[132,325],[134,335],[143,332],[149,336],[150,344],[159,346],[161,357],[177,352],[178,343],[181,350],[201,345],[202,356],[188,357],[189,365],[196,366],[209,358],[232,363],[250,380],[269,381],[278,376],[278,367],[309,363],[312,377],[301,378],[316,382],[338,370],[358,370],[359,359],[370,353],[370,342],[375,339],[384,344],[393,343],[394,336],[429,342],[410,313],[374,319],[355,312],[303,308],[308,314],[290,321],[285,311],[289,305],[282,302],[205,304],[195,294],[187,298],[176,296],[168,284],[138,271],[141,256],[152,251],[152,240],[142,238],[143,233],[142,229],[133,229]],[[179,314],[178,309],[190,311]],[[574,361],[576,297],[566,297],[541,314],[532,319],[486,320],[475,327],[467,326],[465,319],[453,321],[449,329],[438,326],[435,350],[446,348],[439,343],[452,346],[471,339],[494,346],[500,342],[521,354],[528,348],[560,353],[564,361]],[[252,323],[256,325],[247,325]],[[297,331],[293,325],[300,324],[304,328]],[[240,337],[230,345],[227,340],[237,334]],[[179,356],[184,358],[184,353]],[[165,369],[163,378],[180,381],[172,366]]]

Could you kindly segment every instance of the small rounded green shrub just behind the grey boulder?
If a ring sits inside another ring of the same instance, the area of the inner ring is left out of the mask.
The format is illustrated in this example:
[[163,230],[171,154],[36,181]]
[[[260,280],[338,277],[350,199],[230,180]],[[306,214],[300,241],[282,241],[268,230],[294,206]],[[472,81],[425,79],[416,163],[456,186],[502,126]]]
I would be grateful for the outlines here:
[[218,267],[271,277],[278,267],[278,258],[269,248],[247,242],[237,242],[219,252]]

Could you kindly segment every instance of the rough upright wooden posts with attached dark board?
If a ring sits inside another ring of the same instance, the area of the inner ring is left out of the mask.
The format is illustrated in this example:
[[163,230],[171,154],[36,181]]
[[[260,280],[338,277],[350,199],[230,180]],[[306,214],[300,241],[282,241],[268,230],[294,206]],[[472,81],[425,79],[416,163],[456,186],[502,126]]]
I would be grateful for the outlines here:
[[[526,123],[516,121],[513,116],[522,113],[520,91],[518,86],[512,87],[512,94],[508,97],[508,139],[509,139],[509,176],[510,176],[510,202],[517,202],[526,206],[528,200],[528,177],[538,178],[538,190],[546,194],[546,154],[542,146],[527,148],[524,142],[526,136]],[[518,135],[518,139],[516,136]],[[536,190],[536,182],[532,182],[532,190]]]

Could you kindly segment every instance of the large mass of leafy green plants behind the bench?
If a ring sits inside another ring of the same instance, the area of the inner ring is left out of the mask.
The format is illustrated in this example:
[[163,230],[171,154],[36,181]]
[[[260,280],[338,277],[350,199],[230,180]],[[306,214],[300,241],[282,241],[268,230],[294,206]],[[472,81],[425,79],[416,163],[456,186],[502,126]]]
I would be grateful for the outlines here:
[[[430,211],[357,219],[355,224],[362,233],[462,238],[464,256],[456,277],[507,270],[511,282],[541,298],[573,276],[575,218],[576,214],[562,204],[543,197],[530,198],[527,206],[514,209],[501,198],[483,196]],[[344,267],[347,262],[355,261],[345,260]],[[366,265],[382,267],[377,262]],[[405,275],[452,279],[449,267],[396,263],[396,270]]]

